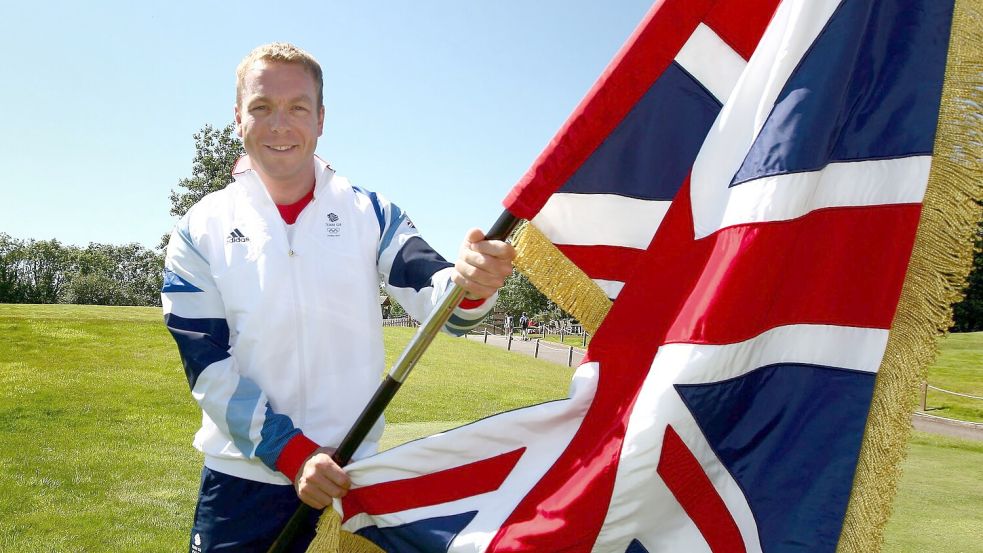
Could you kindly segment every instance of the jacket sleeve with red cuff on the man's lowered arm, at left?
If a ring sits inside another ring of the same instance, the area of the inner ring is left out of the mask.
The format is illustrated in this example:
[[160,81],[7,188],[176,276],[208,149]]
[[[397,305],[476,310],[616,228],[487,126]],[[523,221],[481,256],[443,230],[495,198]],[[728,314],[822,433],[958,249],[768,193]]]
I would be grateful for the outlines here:
[[244,457],[258,457],[292,481],[317,444],[290,417],[275,413],[263,390],[239,374],[225,307],[208,259],[192,240],[188,216],[167,247],[161,304],[195,401]]

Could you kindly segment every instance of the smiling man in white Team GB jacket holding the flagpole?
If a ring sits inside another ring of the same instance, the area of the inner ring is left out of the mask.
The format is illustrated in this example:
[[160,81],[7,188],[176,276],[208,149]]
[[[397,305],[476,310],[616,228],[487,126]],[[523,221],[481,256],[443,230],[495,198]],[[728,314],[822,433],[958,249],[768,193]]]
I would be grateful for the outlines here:
[[[472,229],[452,266],[398,207],[318,159],[322,73],[309,54],[261,46],[236,76],[247,156],[235,182],[178,223],[162,290],[202,408],[191,551],[264,551],[299,501],[320,509],[345,494],[330,454],[384,370],[380,279],[417,319],[451,281],[462,286],[445,330],[463,334],[491,309],[515,256]],[[380,421],[355,458],[381,434]]]

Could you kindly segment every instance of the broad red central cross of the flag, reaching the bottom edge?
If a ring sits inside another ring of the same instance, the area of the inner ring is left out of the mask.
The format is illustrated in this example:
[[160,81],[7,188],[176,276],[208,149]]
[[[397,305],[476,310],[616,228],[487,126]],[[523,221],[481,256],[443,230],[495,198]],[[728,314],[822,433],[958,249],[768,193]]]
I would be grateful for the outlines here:
[[890,326],[919,205],[827,209],[694,240],[689,198],[687,179],[591,342],[600,374],[581,427],[489,553],[591,550],[661,344],[734,343],[784,324]]

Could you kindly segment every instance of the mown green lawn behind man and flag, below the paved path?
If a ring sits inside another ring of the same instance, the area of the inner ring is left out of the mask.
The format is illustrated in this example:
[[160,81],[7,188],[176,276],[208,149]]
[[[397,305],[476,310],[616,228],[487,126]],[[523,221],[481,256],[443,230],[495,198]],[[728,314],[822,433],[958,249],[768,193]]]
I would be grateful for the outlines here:
[[[390,362],[411,334],[387,329]],[[159,310],[0,305],[0,337],[0,551],[186,550],[200,413]],[[384,445],[564,397],[571,374],[438,337],[387,412]],[[909,447],[885,551],[973,551],[983,445]]]

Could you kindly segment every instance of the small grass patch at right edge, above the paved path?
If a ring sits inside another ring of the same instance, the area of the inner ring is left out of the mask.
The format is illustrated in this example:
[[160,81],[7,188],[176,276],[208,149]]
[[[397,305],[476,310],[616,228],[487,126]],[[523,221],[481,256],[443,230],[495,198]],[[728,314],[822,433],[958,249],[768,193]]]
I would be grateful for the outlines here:
[[[942,340],[939,356],[928,368],[928,383],[983,397],[983,332],[950,334]],[[983,422],[983,400],[929,390],[927,405],[932,415]]]

